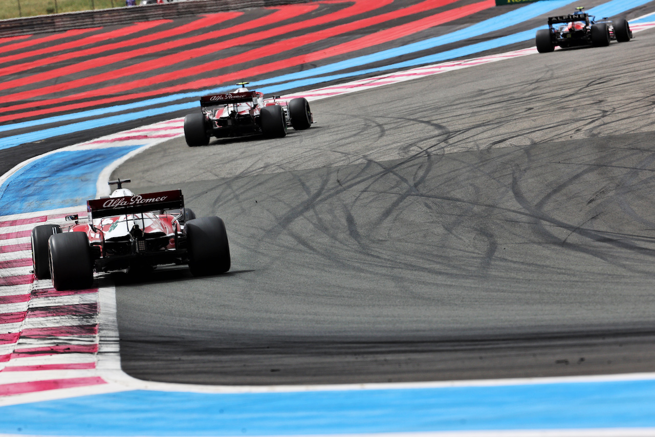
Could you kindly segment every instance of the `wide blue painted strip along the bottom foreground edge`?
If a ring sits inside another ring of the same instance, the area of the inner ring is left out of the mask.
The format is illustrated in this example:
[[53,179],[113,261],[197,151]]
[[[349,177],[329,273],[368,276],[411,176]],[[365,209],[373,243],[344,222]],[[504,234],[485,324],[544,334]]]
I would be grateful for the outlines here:
[[655,427],[655,381],[197,394],[134,390],[0,407],[0,433],[245,436]]

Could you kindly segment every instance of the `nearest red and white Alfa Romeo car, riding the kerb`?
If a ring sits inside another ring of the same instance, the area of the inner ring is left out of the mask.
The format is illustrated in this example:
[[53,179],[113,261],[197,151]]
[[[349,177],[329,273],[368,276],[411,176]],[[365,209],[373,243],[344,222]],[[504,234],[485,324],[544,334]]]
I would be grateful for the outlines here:
[[33,272],[57,290],[86,289],[95,272],[188,264],[194,276],[230,269],[225,224],[196,218],[180,190],[134,194],[117,184],[111,196],[86,201],[88,218],[69,226],[43,224],[31,232]]

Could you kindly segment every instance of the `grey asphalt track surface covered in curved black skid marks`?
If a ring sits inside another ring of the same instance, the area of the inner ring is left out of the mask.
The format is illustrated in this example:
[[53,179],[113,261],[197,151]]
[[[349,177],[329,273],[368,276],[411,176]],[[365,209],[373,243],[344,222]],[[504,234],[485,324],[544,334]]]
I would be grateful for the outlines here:
[[178,139],[122,165],[134,191],[179,187],[223,217],[233,253],[224,276],[117,278],[124,370],[228,385],[654,371],[654,42],[321,100],[309,131]]

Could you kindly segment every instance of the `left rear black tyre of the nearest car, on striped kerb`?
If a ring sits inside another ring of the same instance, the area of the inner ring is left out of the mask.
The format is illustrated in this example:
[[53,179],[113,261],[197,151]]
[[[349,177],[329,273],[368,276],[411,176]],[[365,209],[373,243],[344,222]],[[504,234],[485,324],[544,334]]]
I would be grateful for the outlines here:
[[48,239],[50,275],[56,290],[79,290],[93,285],[93,260],[84,232],[64,232]]

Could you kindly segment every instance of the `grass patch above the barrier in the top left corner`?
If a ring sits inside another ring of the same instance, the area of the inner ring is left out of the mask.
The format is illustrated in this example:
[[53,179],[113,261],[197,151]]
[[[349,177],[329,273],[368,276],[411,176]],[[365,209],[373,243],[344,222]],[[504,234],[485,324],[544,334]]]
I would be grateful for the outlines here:
[[0,0],[0,20],[125,6],[125,0]]

